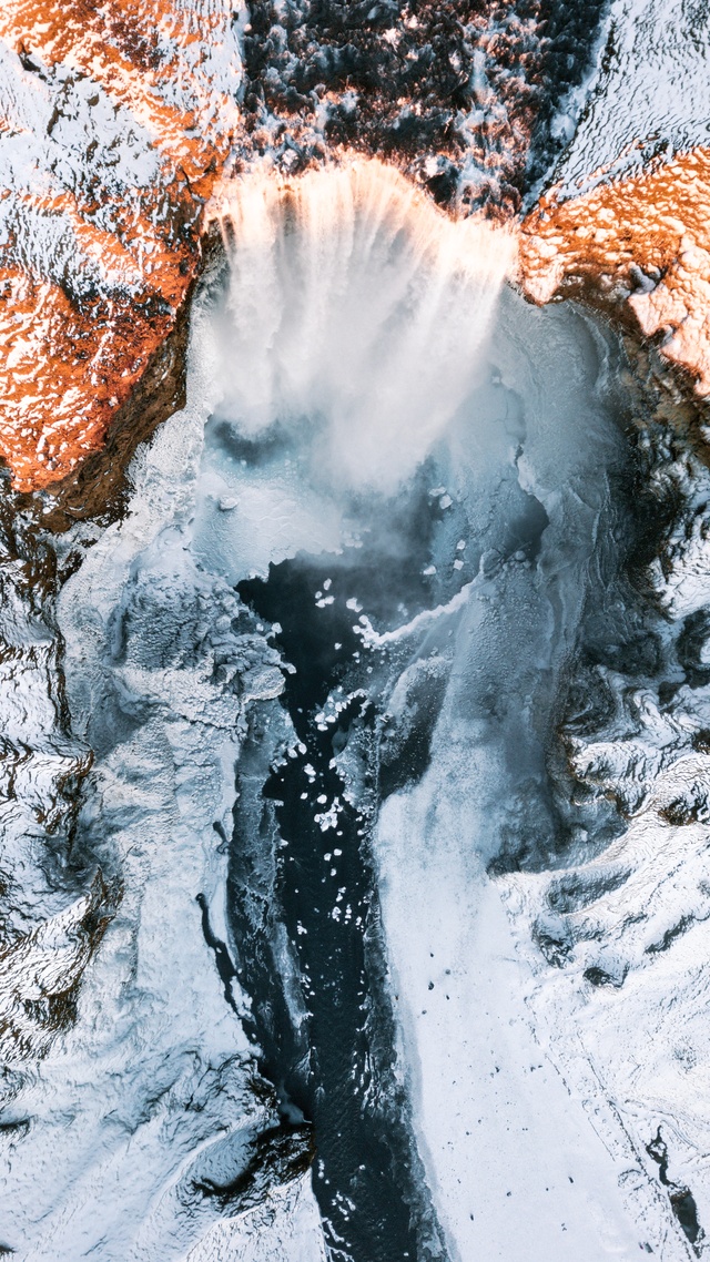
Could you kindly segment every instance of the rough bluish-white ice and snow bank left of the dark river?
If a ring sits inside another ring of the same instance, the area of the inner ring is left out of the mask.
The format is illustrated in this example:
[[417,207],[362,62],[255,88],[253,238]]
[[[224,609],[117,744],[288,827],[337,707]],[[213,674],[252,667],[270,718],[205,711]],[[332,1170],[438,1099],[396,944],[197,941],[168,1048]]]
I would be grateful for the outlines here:
[[[200,343],[198,321],[195,337]],[[3,1132],[1,1230],[28,1262],[97,1251],[106,1262],[183,1258],[221,1214],[196,1185],[243,1175],[255,1138],[275,1121],[268,1093],[254,1090],[255,1049],[239,1020],[246,1000],[232,983],[226,1002],[196,902],[203,893],[224,938],[225,859],[214,824],[230,827],[240,713],[249,698],[282,687],[263,636],[225,634],[220,618],[230,622],[236,598],[219,574],[198,573],[184,546],[210,409],[203,360],[196,351],[187,410],[136,466],[126,520],[95,541],[58,602],[75,743],[96,755],[80,844],[83,863],[99,863],[114,887],[115,906],[76,1025],[45,1040],[37,1068],[20,1059],[10,1079],[5,1118],[18,1118],[19,1132]],[[215,681],[217,660],[230,656],[235,665]],[[37,775],[43,714],[25,704],[38,724],[34,738],[24,727],[39,747]],[[51,718],[44,724],[48,741]],[[72,915],[54,916],[44,946],[69,981],[73,957],[62,954],[58,920]],[[32,939],[28,949],[37,952]],[[27,960],[21,972],[27,986]],[[265,1162],[251,1195],[265,1195],[274,1177]],[[293,1200],[294,1238],[311,1232],[317,1257],[307,1199],[304,1190]],[[282,1232],[289,1204],[279,1210]]]

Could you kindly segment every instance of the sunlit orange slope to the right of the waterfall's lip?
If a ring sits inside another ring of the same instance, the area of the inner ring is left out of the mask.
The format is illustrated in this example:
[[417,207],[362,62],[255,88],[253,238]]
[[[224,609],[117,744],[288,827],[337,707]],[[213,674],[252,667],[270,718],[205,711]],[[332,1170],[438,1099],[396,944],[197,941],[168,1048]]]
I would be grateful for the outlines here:
[[613,314],[709,396],[710,149],[577,197],[550,191],[522,223],[520,283],[537,303],[574,297]]

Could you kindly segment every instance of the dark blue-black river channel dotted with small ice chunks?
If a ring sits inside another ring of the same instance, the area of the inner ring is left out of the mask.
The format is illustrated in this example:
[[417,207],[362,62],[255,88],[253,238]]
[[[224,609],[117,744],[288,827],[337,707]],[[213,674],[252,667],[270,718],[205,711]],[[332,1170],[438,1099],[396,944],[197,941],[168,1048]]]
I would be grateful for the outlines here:
[[[259,617],[282,627],[278,644],[296,668],[286,676],[282,703],[301,746],[296,757],[269,767],[275,716],[262,711],[255,718],[239,767],[232,931],[262,1068],[280,1093],[284,1124],[298,1124],[301,1116],[312,1123],[326,1238],[334,1258],[351,1262],[445,1257],[395,1076],[369,843],[380,791],[376,695],[388,663],[380,651],[363,649],[352,630],[358,613],[346,604],[360,598],[375,625],[424,607],[430,593],[421,570],[433,525],[433,510],[416,501],[388,530],[390,549],[406,538],[404,563],[375,544],[340,559],[288,560],[273,565],[267,582],[239,586]],[[318,607],[317,596],[332,602]],[[336,721],[318,723],[337,685]],[[334,765],[346,747],[361,772],[356,804],[346,800]],[[418,762],[423,770],[421,751]],[[323,832],[315,817],[334,804],[334,827]],[[293,982],[284,981],[280,925],[296,958],[304,1021],[294,1018]]]

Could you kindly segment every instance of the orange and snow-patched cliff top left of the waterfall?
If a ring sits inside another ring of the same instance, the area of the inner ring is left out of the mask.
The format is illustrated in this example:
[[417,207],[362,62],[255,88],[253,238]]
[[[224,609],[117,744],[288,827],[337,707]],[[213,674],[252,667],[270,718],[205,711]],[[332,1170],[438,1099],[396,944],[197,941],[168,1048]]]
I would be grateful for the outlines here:
[[96,451],[174,326],[236,125],[234,30],[226,0],[0,15],[0,451],[19,490]]

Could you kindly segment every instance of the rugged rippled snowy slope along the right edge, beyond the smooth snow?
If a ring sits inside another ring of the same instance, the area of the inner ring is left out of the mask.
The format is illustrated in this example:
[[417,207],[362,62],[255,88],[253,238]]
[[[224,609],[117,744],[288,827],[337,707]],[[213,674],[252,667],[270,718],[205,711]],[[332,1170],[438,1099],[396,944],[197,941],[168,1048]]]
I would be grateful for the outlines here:
[[[659,497],[663,487],[677,496],[649,575],[666,611],[665,659],[681,668],[677,688],[662,700],[657,679],[610,675],[613,718],[571,747],[580,782],[617,798],[628,825],[593,862],[512,875],[503,892],[536,976],[529,1006],[538,1036],[545,1031],[571,1085],[587,1092],[594,1084],[614,1103],[642,1157],[661,1136],[668,1189],[692,1194],[702,1252],[710,1217],[707,477],[682,443],[658,454],[653,476]],[[560,968],[545,968],[534,950],[541,930],[562,952]],[[672,1232],[654,1248],[675,1256]]]

